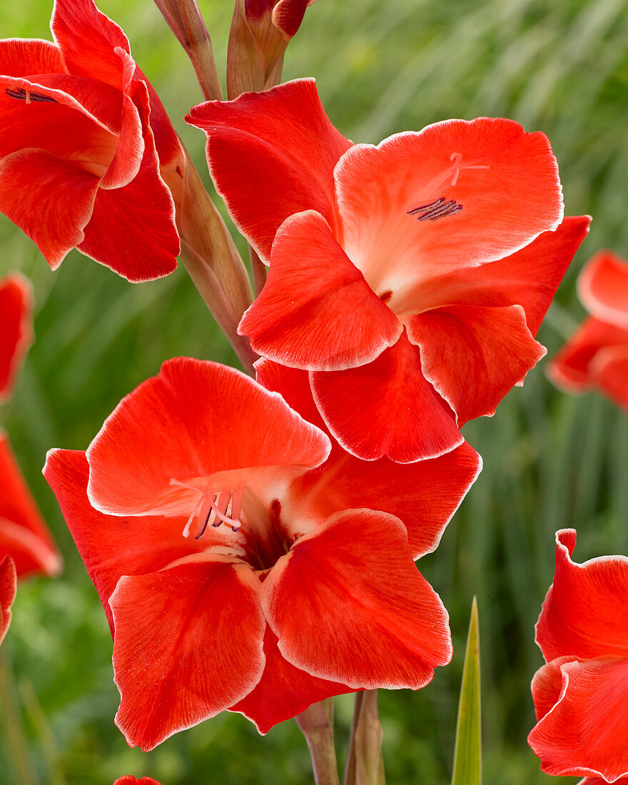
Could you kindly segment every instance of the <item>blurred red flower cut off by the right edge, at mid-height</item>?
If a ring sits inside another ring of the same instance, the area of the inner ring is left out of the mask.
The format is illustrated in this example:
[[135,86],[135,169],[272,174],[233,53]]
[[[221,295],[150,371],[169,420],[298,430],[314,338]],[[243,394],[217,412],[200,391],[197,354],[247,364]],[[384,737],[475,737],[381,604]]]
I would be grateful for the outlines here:
[[600,251],[582,270],[578,288],[591,316],[547,373],[569,392],[598,389],[628,411],[628,262]]

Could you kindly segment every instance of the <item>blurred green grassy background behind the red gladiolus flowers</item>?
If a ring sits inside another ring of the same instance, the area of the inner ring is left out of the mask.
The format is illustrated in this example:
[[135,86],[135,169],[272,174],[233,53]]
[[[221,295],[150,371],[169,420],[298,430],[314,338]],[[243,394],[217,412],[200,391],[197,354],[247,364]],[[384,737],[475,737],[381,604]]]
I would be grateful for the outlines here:
[[[221,73],[229,0],[200,0]],[[2,37],[49,38],[52,0],[8,0]],[[183,116],[201,96],[193,71],[150,0],[101,0],[206,177],[203,133]],[[354,141],[377,142],[450,117],[501,115],[552,141],[566,212],[590,213],[539,340],[549,354],[583,316],[575,279],[609,246],[628,257],[626,95],[628,0],[319,0],[290,44],[285,77],[313,75],[327,112]],[[208,178],[206,178],[208,179]],[[20,586],[3,644],[20,685],[31,761],[41,783],[110,785],[150,775],[164,785],[311,779],[294,722],[257,735],[225,713],[150,754],[113,725],[118,693],[111,638],[93,586],[40,469],[49,447],[84,449],[115,404],[162,360],[234,363],[184,268],[133,286],[77,252],[50,272],[35,246],[0,217],[0,272],[20,269],[36,295],[36,341],[16,395],[0,411],[35,497],[64,552],[64,575]],[[420,563],[451,613],[455,658],[420,692],[382,691],[390,785],[447,783],[464,637],[480,608],[485,785],[550,783],[525,737],[529,682],[542,663],[534,623],[553,575],[553,533],[579,531],[575,557],[628,553],[628,418],[597,396],[553,389],[539,363],[494,418],[466,426],[484,472],[433,555]],[[341,754],[352,700],[337,701]],[[0,744],[0,783],[13,783]],[[575,780],[566,780],[571,783]]]

